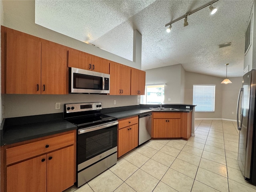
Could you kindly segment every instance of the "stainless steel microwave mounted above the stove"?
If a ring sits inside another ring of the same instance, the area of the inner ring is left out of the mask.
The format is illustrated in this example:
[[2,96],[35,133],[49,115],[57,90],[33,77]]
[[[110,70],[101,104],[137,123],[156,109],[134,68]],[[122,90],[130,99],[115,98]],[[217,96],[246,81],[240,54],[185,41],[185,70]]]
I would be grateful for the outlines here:
[[109,93],[110,74],[69,68],[69,93]]

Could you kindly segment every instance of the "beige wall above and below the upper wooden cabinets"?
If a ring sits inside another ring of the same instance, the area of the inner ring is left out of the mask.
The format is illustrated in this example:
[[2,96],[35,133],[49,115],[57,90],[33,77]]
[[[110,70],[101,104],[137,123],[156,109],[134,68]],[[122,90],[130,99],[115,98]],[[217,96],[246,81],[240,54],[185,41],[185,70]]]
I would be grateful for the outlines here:
[[[58,44],[72,47],[90,54],[112,60],[134,68],[141,68],[141,64],[126,60],[99,48],[90,46],[63,34],[54,32],[34,23],[35,1],[0,1],[4,10],[1,24],[33,36],[37,36]],[[2,16],[2,12],[1,12]],[[3,20],[3,22],[2,22]],[[138,96],[108,96],[108,95],[2,95],[3,116],[10,118],[37,114],[50,114],[63,112],[63,104],[74,102],[102,102],[103,108],[136,105]],[[116,105],[113,104],[116,100]],[[61,103],[61,110],[55,110],[55,102]]]

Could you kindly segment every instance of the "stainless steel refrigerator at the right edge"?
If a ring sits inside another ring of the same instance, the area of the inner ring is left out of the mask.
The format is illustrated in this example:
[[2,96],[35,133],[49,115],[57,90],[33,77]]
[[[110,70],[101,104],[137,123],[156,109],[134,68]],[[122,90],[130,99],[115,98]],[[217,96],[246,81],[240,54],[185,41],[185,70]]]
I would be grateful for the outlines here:
[[237,102],[238,164],[245,180],[256,184],[256,70],[246,73],[242,82]]

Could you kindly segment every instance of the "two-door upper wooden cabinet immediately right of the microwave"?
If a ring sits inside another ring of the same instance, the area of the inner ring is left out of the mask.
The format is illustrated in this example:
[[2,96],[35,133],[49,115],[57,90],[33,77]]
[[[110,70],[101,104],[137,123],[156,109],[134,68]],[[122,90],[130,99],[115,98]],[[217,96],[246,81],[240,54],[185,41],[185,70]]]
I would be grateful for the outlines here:
[[110,95],[130,95],[131,68],[110,62]]

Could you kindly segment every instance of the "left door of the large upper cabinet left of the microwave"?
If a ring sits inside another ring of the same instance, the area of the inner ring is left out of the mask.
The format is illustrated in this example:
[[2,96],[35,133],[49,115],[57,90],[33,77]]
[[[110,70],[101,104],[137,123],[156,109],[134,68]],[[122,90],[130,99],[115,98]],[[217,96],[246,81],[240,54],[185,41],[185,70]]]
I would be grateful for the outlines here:
[[7,30],[6,93],[41,94],[41,42]]

